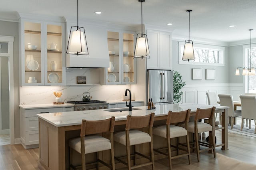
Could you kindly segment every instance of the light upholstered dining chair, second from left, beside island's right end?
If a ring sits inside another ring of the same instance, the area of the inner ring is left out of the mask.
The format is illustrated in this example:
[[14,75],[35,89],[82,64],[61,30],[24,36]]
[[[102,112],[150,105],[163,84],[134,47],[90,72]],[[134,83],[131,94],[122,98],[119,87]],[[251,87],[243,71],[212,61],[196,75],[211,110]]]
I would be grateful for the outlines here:
[[242,116],[241,110],[234,110],[234,103],[232,95],[224,95],[224,94],[218,94],[218,97],[220,98],[220,105],[221,106],[228,106],[228,117],[231,119],[231,129],[233,129],[233,125],[235,123],[235,117]]

